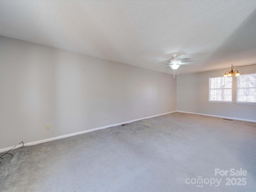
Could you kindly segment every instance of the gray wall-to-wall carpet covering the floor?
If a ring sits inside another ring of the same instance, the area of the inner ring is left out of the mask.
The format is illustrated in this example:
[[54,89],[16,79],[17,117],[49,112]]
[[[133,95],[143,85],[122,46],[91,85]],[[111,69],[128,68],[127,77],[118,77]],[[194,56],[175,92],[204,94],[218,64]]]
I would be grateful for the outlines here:
[[253,122],[175,112],[11,152],[1,192],[256,191]]

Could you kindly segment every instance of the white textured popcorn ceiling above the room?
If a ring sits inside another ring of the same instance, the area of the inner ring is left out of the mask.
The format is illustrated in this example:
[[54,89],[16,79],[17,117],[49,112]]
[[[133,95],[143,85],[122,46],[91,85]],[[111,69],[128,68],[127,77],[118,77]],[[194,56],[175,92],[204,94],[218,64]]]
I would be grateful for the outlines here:
[[0,1],[0,35],[188,74],[256,63],[256,1]]

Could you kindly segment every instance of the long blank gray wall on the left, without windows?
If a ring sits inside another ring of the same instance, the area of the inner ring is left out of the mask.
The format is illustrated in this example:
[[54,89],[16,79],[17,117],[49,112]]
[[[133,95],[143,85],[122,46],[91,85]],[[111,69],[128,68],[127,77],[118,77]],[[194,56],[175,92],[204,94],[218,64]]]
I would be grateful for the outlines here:
[[0,148],[175,110],[170,74],[0,36]]

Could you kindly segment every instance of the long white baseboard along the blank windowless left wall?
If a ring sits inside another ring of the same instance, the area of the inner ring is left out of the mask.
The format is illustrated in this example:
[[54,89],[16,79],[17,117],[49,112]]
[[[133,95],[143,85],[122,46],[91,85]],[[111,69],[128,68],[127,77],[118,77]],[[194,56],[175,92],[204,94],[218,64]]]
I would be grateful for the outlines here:
[[[100,129],[106,129],[106,128],[109,128],[109,127],[114,127],[114,126],[118,126],[118,125],[122,125],[122,124],[126,124],[126,123],[131,123],[131,122],[134,122],[134,121],[139,121],[139,120],[143,120],[143,119],[148,119],[148,118],[152,118],[152,117],[166,115],[166,114],[174,113],[174,112],[176,112],[176,111],[172,111],[172,112],[168,112],[168,113],[162,113],[162,114],[153,115],[153,116],[144,117],[144,118],[135,119],[135,120],[130,120],[130,121],[126,121],[126,122],[122,122],[122,123],[117,123],[117,124],[113,124],[113,125],[107,125],[107,126],[104,126],[104,127],[98,127],[98,128],[94,128],[94,129],[84,130],[84,131],[80,131],[80,132],[76,132],[76,133],[71,133],[71,134],[66,134],[66,135],[62,135],[62,136],[58,136],[58,137],[52,137],[52,138],[48,138],[48,139],[44,139],[44,140],[39,140],[39,141],[34,141],[34,142],[30,142],[30,143],[24,143],[24,146],[36,145],[36,144],[40,144],[40,143],[44,143],[44,142],[48,142],[48,141],[52,141],[52,140],[57,140],[57,139],[62,139],[62,138],[66,138],[66,137],[71,137],[71,136],[75,136],[75,135],[79,135],[79,134],[83,134],[83,133],[88,133],[88,132],[92,132],[92,131],[96,131],[96,130],[100,130]],[[2,148],[2,149],[0,149],[0,153],[8,151],[8,150],[10,150],[13,147],[14,146]],[[22,145],[17,145],[15,148],[19,148],[19,147],[22,147]]]

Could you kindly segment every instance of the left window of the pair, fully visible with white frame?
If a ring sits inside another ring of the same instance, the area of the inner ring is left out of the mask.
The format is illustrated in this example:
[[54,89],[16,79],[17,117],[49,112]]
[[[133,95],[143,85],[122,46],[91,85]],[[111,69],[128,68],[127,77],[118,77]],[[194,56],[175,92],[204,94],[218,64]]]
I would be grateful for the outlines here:
[[209,78],[209,101],[232,102],[232,77]]

